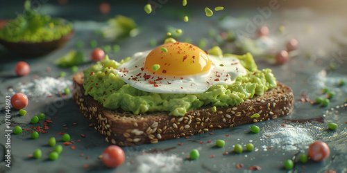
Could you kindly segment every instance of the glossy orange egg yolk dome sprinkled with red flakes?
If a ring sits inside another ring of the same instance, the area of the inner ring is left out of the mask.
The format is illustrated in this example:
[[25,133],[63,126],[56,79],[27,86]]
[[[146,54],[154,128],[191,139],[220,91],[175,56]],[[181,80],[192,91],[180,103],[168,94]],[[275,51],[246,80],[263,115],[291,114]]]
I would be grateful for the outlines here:
[[[162,51],[166,48],[167,52]],[[160,65],[153,71],[152,66]],[[212,62],[208,55],[192,44],[170,42],[153,49],[146,57],[144,69],[158,75],[183,76],[203,73],[211,69]]]

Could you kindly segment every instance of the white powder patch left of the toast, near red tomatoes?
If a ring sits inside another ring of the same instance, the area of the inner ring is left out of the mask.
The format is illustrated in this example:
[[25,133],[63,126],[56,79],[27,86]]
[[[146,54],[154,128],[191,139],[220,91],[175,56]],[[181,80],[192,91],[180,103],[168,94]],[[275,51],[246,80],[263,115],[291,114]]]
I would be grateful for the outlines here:
[[12,95],[19,92],[24,93],[28,97],[42,97],[64,93],[64,89],[71,85],[71,80],[46,76],[25,84],[19,82],[8,89],[8,91],[10,91]]

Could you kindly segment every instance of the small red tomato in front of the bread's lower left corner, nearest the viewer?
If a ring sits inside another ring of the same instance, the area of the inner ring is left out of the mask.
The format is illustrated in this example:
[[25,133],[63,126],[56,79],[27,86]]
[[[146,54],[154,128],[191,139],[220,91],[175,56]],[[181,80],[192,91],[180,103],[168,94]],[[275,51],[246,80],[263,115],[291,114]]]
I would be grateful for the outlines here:
[[123,149],[117,145],[110,145],[103,150],[103,164],[107,167],[117,167],[126,159]]

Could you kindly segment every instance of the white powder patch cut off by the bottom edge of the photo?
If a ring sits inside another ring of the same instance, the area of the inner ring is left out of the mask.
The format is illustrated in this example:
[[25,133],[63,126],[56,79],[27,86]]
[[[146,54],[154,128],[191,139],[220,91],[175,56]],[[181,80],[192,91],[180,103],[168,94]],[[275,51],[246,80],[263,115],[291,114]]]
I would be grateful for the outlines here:
[[135,172],[180,172],[182,162],[183,159],[174,154],[144,154],[135,158]]

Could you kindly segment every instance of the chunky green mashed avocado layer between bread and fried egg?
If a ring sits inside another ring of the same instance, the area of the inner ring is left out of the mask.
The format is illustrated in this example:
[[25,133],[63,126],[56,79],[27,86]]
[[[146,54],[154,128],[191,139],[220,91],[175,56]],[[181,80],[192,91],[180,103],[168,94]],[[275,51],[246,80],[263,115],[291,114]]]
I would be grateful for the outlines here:
[[[221,56],[221,53],[213,51],[213,48],[209,54]],[[254,95],[262,95],[264,91],[276,86],[276,78],[271,69],[258,70],[250,53],[223,55],[223,57],[228,56],[237,57],[246,68],[247,75],[240,75],[233,84],[213,85],[208,91],[197,94],[150,93],[135,89],[121,80],[113,70],[128,58],[116,62],[106,56],[103,61],[96,62],[94,66],[84,71],[85,95],[91,95],[103,107],[111,110],[123,109],[137,115],[167,111],[170,116],[184,116],[187,111],[202,106],[235,106],[247,98],[253,98]]]

